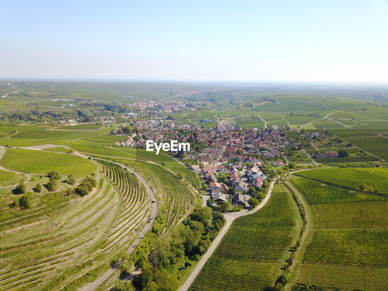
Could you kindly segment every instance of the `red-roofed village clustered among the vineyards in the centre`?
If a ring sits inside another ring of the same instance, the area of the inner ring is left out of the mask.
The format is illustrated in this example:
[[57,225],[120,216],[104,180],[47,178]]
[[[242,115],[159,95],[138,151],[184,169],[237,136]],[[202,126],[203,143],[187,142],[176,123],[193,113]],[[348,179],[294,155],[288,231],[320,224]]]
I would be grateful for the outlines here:
[[274,173],[270,169],[284,166],[281,152],[298,147],[278,126],[240,130],[234,123],[225,122],[214,129],[201,129],[173,120],[137,120],[131,125],[122,124],[117,132],[111,131],[127,137],[113,146],[144,148],[147,140],[191,144],[191,151],[174,152],[174,158],[203,178],[203,204],[211,207],[223,203],[230,203],[231,209],[248,207],[249,199],[260,198],[266,191]]

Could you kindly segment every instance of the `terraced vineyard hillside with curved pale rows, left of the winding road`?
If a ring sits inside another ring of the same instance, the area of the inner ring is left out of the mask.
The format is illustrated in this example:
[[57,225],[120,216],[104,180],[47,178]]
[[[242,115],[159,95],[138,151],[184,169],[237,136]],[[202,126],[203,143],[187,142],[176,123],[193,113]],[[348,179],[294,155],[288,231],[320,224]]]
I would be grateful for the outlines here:
[[81,198],[66,191],[35,194],[25,210],[1,198],[0,290],[74,290],[128,249],[151,202],[135,175],[113,163],[102,168],[112,184],[101,177]]

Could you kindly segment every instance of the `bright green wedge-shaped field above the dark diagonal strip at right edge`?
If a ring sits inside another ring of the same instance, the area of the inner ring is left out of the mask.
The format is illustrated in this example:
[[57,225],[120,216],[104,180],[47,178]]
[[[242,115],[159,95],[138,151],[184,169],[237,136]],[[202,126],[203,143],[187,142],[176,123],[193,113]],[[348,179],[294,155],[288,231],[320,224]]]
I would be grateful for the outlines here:
[[298,176],[349,187],[357,191],[360,184],[365,184],[366,187],[372,187],[372,192],[388,194],[388,168],[318,169],[301,171]]

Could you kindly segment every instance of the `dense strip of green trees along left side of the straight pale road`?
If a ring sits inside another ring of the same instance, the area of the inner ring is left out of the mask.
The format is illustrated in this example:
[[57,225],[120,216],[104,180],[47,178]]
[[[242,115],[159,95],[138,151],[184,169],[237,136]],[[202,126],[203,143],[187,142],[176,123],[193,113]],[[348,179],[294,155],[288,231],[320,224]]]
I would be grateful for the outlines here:
[[224,224],[221,213],[209,207],[196,208],[170,239],[159,243],[149,256],[140,258],[137,265],[142,274],[134,279],[135,287],[142,291],[177,290],[178,275],[184,274],[193,261],[206,253]]

